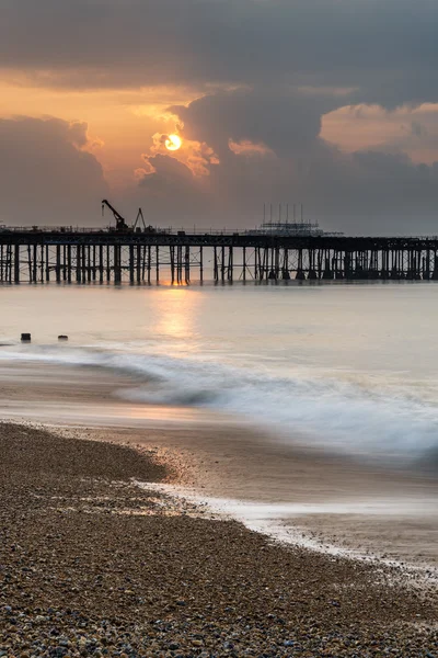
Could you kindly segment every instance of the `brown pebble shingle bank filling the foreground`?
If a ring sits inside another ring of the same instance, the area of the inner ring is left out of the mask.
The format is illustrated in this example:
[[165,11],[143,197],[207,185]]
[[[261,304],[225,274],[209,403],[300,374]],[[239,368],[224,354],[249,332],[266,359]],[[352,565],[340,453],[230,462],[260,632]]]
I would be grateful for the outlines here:
[[154,452],[8,423],[0,443],[3,656],[419,658],[437,646],[436,591],[174,509],[132,481],[166,479]]

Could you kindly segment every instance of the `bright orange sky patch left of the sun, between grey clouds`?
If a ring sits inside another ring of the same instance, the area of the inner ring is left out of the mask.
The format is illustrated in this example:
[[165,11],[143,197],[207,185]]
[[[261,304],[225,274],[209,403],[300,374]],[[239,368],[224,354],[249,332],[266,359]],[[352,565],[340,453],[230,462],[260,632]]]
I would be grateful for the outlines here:
[[[197,98],[194,90],[159,87],[138,91],[66,91],[19,87],[0,82],[0,116],[55,116],[85,122],[90,150],[103,164],[105,178],[115,189],[131,182],[142,166],[157,133],[174,133],[176,117],[165,112],[173,104]],[[182,154],[174,154],[182,158]]]

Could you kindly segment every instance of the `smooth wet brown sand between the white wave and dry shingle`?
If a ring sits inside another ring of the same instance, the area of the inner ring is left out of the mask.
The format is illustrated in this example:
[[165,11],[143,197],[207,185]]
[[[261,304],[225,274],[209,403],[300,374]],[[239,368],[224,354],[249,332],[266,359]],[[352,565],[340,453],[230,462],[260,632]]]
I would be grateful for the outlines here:
[[433,477],[328,455],[304,446],[300,436],[286,445],[208,410],[123,401],[116,392],[135,383],[96,368],[3,363],[0,415],[155,446],[175,464],[181,486],[219,498],[222,507],[227,499],[230,513],[275,536],[438,566]]

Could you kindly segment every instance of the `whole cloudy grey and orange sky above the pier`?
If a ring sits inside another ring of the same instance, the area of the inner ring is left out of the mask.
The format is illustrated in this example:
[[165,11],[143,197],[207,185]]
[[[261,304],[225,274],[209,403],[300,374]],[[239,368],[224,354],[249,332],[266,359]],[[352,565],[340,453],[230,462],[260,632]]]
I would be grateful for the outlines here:
[[438,235],[437,24],[436,0],[0,0],[0,224],[105,226],[105,197]]

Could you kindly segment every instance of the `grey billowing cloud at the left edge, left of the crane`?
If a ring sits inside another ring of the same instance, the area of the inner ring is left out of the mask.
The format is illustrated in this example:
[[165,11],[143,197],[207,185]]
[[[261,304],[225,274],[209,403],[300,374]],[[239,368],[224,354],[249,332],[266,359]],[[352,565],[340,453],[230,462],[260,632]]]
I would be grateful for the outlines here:
[[0,223],[97,224],[106,185],[85,144],[85,124],[0,120]]

